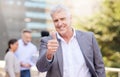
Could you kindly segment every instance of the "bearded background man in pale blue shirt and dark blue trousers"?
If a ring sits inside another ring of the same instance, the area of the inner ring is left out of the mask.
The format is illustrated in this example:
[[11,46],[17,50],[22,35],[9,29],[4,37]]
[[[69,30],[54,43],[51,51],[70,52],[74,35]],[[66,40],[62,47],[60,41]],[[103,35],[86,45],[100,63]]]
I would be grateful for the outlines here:
[[30,77],[30,68],[34,65],[32,56],[37,52],[37,48],[31,43],[31,31],[24,29],[22,39],[18,41],[19,47],[16,56],[20,60],[21,77]]

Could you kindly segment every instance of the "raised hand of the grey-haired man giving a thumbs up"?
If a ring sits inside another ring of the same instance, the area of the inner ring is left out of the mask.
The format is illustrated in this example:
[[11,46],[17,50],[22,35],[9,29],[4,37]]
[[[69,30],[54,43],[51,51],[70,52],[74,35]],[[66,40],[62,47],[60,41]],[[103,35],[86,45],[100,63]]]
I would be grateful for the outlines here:
[[51,36],[52,36],[52,39],[49,40],[47,44],[46,57],[48,60],[51,60],[53,58],[53,55],[57,51],[57,48],[58,48],[58,41],[57,41],[56,33],[52,32]]

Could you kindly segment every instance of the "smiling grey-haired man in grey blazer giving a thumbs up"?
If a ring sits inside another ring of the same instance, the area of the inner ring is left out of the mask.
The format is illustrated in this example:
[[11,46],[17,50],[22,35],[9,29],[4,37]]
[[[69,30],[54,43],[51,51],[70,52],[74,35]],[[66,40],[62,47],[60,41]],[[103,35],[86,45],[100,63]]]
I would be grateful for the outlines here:
[[37,68],[46,77],[105,77],[98,44],[92,32],[71,27],[71,14],[63,5],[51,10],[57,33],[41,39]]

